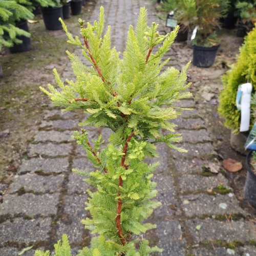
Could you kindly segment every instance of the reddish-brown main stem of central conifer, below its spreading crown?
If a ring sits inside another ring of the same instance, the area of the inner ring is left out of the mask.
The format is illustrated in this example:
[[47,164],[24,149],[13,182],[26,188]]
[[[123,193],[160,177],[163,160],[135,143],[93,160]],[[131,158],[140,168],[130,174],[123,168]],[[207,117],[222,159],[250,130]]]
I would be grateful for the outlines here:
[[[127,148],[128,148],[128,143],[131,141],[132,137],[134,136],[135,132],[132,132],[129,137],[126,139],[125,141],[125,145],[123,147],[123,153],[124,155],[122,156],[121,159],[121,167],[127,168],[127,166],[124,164],[125,161],[125,157],[126,157],[126,153],[127,153]],[[121,176],[119,176],[119,182],[118,182],[118,186],[122,187],[123,186],[123,179]],[[121,191],[118,190],[117,192],[117,196],[120,197],[121,196]],[[121,212],[122,212],[122,199],[119,198],[117,200],[117,210],[116,210],[116,227],[117,227],[117,233],[118,233],[118,237],[120,238],[120,241],[122,243],[122,245],[125,245],[126,241],[124,239],[123,236],[123,231],[122,231],[122,227],[121,227]]]

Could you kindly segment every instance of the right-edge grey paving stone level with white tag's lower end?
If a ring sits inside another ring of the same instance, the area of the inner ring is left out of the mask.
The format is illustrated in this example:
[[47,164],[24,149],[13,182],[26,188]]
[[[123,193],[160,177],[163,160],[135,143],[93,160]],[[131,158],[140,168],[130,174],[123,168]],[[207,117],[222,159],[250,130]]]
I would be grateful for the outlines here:
[[204,121],[201,118],[182,118],[182,117],[178,117],[175,120],[171,120],[172,123],[175,123],[176,125],[178,125],[177,127],[175,127],[175,130],[179,130],[179,129],[187,129],[187,130],[199,130],[201,131],[201,129],[205,129],[206,126],[204,124]]

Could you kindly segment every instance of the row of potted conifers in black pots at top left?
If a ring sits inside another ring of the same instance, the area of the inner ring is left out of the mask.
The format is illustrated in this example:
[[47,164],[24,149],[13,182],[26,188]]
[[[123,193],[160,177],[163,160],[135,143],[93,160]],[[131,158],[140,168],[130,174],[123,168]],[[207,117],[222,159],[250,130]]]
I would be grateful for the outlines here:
[[[0,1],[0,52],[8,47],[11,53],[26,52],[32,49],[28,19],[34,17],[38,7],[42,12],[47,30],[60,30],[59,17],[69,18],[81,13],[85,0],[1,0]],[[0,78],[3,70],[0,63]]]

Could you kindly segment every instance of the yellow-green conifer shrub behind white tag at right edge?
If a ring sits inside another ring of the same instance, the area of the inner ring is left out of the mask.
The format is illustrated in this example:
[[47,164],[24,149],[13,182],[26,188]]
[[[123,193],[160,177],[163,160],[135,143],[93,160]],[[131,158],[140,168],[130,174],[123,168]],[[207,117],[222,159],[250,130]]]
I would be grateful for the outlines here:
[[[237,110],[236,97],[238,86],[252,83],[253,92],[256,89],[256,27],[245,37],[245,42],[240,48],[237,62],[223,77],[223,91],[220,93],[219,113],[225,118],[225,125],[233,133],[238,133],[240,128],[241,112]],[[253,122],[253,118],[251,118]],[[252,123],[251,123],[252,124]]]

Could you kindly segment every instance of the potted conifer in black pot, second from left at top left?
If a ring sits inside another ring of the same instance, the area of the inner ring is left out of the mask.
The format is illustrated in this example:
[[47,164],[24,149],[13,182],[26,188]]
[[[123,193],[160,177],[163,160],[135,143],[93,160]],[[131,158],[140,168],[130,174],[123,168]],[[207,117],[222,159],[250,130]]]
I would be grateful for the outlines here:
[[46,0],[44,5],[41,5],[41,11],[47,30],[62,29],[61,24],[58,22],[59,17],[63,18],[60,0]]

